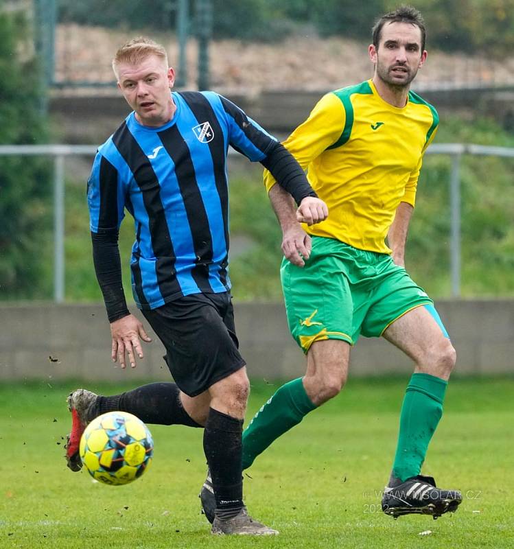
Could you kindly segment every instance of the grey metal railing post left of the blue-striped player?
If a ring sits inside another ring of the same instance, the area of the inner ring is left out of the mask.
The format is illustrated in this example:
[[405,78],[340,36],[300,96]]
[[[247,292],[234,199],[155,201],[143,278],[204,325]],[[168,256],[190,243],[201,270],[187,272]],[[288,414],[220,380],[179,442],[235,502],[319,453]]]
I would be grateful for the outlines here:
[[54,301],[65,301],[65,157],[54,159]]

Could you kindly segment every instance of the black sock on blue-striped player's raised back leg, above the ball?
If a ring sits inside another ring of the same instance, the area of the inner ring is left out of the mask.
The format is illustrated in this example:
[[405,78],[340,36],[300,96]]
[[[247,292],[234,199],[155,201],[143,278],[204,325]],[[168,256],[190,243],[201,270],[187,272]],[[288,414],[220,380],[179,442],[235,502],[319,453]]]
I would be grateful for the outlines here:
[[99,415],[120,410],[134,414],[145,423],[203,426],[184,410],[180,389],[174,383],[150,383],[121,395],[98,397],[96,407]]

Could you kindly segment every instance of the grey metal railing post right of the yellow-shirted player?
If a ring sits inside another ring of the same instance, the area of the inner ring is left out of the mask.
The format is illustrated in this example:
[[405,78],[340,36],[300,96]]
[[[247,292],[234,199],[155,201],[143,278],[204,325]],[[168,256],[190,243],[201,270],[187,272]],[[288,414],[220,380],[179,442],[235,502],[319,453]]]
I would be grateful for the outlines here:
[[460,154],[452,154],[449,204],[451,233],[449,264],[452,276],[452,297],[460,297]]

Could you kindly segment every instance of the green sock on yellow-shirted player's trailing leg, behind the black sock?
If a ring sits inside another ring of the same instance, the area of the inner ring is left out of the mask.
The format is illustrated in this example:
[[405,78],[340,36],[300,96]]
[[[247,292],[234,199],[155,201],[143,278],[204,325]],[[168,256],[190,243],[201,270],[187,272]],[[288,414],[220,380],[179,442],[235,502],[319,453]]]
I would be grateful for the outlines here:
[[243,432],[243,469],[250,467],[275,439],[300,423],[314,408],[301,377],[281,386]]

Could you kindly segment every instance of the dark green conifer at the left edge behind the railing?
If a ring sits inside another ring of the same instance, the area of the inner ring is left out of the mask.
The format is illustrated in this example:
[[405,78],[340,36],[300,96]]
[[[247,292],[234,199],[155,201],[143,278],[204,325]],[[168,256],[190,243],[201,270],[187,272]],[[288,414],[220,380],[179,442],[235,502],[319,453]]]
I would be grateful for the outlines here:
[[[45,139],[43,94],[36,61],[17,52],[27,36],[21,15],[0,12],[0,144]],[[47,161],[3,156],[0,170],[0,299],[48,297],[49,217]]]

